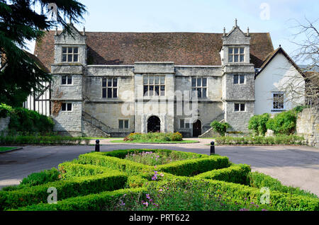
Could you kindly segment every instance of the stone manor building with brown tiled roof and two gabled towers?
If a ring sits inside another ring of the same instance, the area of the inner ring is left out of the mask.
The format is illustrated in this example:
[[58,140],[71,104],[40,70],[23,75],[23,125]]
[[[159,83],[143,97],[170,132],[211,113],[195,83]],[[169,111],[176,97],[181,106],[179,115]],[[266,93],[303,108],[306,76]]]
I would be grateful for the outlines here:
[[247,132],[254,76],[274,51],[269,33],[72,33],[49,31],[35,56],[50,70],[55,131],[123,137],[181,132],[214,120]]

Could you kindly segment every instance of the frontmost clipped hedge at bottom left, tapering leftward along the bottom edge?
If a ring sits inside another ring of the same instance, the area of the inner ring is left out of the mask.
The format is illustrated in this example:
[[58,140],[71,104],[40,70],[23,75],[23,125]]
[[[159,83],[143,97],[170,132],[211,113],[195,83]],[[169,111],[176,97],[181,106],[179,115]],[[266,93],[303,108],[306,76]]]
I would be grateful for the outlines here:
[[[114,207],[121,201],[123,195],[133,200],[138,200],[140,195],[145,195],[145,188],[121,189],[112,192],[101,192],[82,197],[72,197],[57,202],[57,204],[33,204],[27,207],[20,207],[17,211],[113,211]],[[130,207],[125,202],[125,207]],[[132,201],[132,204],[135,204]],[[15,210],[13,210],[15,211]]]

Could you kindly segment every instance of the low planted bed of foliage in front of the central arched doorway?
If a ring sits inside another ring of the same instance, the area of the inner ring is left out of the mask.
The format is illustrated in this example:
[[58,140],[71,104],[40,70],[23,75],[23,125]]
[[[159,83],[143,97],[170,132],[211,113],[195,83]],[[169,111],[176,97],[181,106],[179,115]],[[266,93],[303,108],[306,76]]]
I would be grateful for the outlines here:
[[183,136],[179,132],[175,133],[131,133],[124,138],[125,142],[181,142]]

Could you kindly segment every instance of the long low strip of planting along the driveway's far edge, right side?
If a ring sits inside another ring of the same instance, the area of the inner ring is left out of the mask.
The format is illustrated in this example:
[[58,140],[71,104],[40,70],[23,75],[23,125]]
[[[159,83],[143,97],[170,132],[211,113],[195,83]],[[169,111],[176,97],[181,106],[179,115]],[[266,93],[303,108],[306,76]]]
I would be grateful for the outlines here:
[[276,137],[216,137],[216,145],[240,145],[240,144],[298,144],[304,143],[304,138],[297,135],[278,135]]

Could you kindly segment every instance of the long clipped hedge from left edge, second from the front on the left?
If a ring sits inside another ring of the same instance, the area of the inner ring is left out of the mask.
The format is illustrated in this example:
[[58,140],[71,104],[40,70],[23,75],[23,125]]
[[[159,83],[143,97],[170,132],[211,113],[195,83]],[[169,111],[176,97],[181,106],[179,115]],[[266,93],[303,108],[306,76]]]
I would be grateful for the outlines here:
[[59,180],[21,190],[1,191],[0,210],[14,209],[30,204],[47,202],[47,189],[57,189],[57,199],[64,200],[79,195],[89,195],[106,190],[124,188],[127,175],[118,171],[109,171],[101,175],[83,176],[69,180]]

